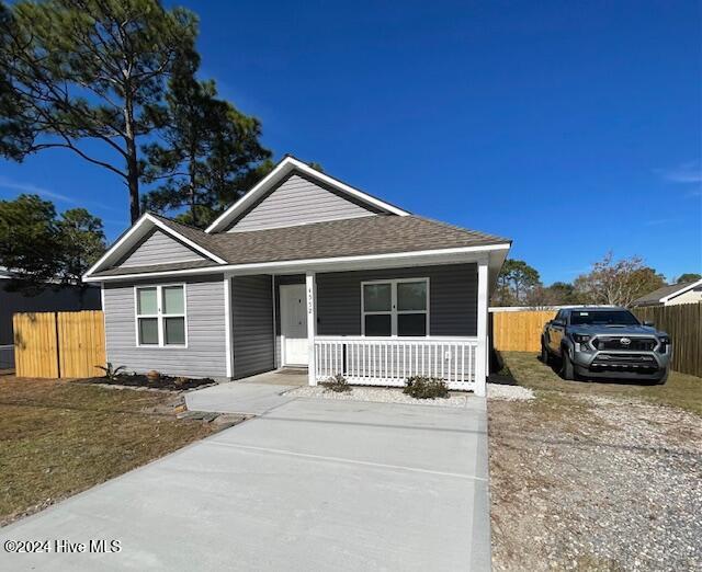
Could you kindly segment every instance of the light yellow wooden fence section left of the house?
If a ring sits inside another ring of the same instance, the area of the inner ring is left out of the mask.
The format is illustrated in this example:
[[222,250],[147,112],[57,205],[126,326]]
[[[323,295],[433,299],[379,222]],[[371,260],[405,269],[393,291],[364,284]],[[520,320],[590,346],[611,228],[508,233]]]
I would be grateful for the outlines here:
[[26,312],[12,317],[18,377],[93,377],[105,364],[103,313]]

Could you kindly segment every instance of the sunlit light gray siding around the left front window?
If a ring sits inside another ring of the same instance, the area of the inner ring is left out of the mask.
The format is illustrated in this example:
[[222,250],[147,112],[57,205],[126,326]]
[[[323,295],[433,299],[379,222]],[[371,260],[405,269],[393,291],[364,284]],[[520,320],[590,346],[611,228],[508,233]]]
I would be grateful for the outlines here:
[[[226,377],[224,277],[152,279],[104,285],[107,361],[129,371],[156,369],[189,377]],[[185,286],[188,347],[137,347],[134,286]]]

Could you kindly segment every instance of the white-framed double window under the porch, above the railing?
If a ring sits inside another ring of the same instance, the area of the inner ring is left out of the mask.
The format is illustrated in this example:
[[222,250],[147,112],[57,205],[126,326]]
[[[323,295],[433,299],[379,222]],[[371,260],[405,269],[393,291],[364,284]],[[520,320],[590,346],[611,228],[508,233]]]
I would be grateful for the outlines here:
[[428,335],[428,299],[429,278],[362,283],[363,335]]

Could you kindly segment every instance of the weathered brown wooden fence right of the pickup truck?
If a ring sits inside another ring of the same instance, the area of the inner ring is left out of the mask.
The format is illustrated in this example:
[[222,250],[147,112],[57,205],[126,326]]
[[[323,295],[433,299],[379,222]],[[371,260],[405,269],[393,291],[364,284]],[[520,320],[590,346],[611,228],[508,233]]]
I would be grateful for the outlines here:
[[702,302],[634,308],[672,340],[672,369],[702,377]]

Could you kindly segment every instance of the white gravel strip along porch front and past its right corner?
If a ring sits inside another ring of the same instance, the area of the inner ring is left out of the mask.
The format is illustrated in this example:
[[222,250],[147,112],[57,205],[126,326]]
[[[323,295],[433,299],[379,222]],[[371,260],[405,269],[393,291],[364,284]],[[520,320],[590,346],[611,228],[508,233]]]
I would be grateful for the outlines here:
[[[315,398],[315,399],[335,399],[342,401],[375,401],[378,403],[401,403],[409,405],[437,405],[444,408],[465,408],[469,399],[474,399],[473,393],[452,392],[445,399],[415,399],[403,393],[399,388],[386,387],[359,387],[354,386],[351,391],[346,393],[337,393],[329,391],[324,387],[303,386],[291,389],[286,396]],[[525,401],[534,399],[531,389],[519,386],[498,386],[495,384],[487,385],[487,396],[489,399],[503,399],[508,401]]]

